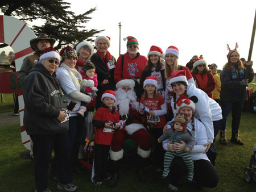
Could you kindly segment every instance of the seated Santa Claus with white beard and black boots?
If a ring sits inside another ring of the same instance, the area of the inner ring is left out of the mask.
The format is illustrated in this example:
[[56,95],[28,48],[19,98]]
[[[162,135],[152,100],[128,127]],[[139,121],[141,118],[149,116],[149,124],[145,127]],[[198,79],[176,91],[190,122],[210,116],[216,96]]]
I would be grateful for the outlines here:
[[125,126],[113,135],[112,146],[110,149],[110,159],[113,164],[113,174],[109,181],[110,187],[115,187],[119,177],[118,164],[123,157],[123,143],[127,138],[134,139],[138,143],[138,164],[137,174],[140,181],[145,181],[146,176],[143,172],[144,162],[150,156],[151,136],[141,123],[139,114],[139,99],[134,91],[135,82],[133,80],[121,80],[117,83],[115,95],[117,100],[115,106],[120,115],[121,122]]

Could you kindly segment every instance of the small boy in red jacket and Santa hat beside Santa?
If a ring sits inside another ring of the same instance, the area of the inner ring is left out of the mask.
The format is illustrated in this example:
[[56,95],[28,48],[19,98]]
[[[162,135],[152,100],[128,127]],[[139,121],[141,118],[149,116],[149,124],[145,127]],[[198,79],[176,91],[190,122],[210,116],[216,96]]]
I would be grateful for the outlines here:
[[96,127],[94,137],[94,185],[101,185],[102,180],[108,180],[110,177],[107,173],[107,161],[109,156],[109,149],[112,141],[114,131],[117,131],[120,126],[115,125],[119,123],[119,113],[115,110],[115,92],[106,90],[102,94],[101,101],[104,107],[97,109],[93,117],[93,126]]

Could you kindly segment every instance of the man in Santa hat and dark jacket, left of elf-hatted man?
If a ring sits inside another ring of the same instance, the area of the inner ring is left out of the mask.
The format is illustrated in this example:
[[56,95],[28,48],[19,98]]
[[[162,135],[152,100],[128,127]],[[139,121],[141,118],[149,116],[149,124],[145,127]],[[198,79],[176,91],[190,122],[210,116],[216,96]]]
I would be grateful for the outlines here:
[[95,65],[96,73],[98,75],[98,92],[96,98],[96,109],[103,106],[101,95],[106,90],[115,90],[114,70],[115,57],[110,54],[108,48],[110,47],[110,37],[98,36],[95,40],[95,46],[98,48],[90,59]]

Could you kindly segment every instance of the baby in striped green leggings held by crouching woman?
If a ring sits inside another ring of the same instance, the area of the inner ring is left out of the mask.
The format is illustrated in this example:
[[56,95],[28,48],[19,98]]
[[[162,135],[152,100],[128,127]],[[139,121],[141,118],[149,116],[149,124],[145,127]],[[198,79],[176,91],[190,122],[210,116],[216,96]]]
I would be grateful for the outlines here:
[[179,156],[183,158],[187,169],[188,169],[188,181],[192,181],[193,179],[193,161],[190,156],[190,151],[193,149],[194,145],[196,144],[196,140],[194,138],[194,132],[188,131],[186,129],[188,124],[188,119],[186,114],[184,113],[178,113],[174,119],[174,126],[170,129],[168,129],[162,136],[159,137],[158,142],[161,143],[166,139],[171,140],[171,144],[174,142],[180,143],[180,140],[184,141],[184,143],[187,145],[187,148],[185,148],[184,151],[179,152],[172,152],[167,151],[164,155],[164,170],[162,177],[167,177],[168,173],[170,172],[170,165],[172,163],[172,160],[175,156]]

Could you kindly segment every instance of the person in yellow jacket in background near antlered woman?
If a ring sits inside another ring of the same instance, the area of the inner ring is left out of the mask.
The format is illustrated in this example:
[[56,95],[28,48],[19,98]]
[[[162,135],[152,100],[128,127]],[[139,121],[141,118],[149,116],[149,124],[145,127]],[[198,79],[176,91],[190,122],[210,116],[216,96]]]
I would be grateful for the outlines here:
[[210,72],[212,72],[214,80],[216,82],[216,88],[212,91],[213,99],[218,104],[220,104],[221,80],[220,80],[220,76],[218,76],[218,73],[217,73],[218,66],[213,63],[211,65],[208,65],[208,68],[210,69]]

